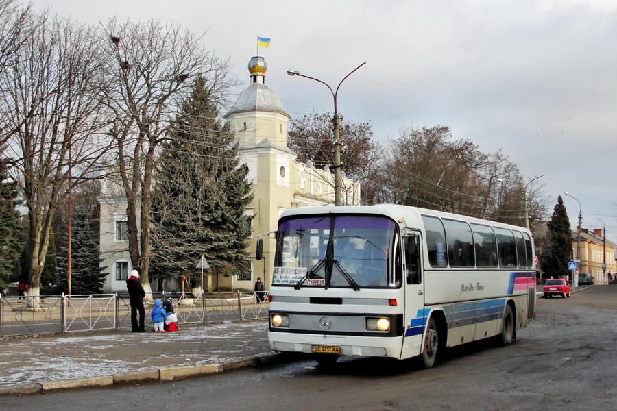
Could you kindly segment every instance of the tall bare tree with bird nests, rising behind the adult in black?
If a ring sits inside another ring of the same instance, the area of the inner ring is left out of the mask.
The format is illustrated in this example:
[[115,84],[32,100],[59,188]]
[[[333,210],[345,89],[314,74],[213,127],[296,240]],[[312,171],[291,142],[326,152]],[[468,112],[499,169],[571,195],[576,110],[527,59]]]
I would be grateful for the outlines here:
[[149,292],[153,175],[167,154],[163,143],[172,135],[182,101],[191,92],[186,80],[203,75],[217,99],[235,80],[230,80],[228,61],[201,45],[202,36],[176,24],[112,19],[104,32],[110,63],[107,105],[115,116],[112,136],[127,202],[128,251]]

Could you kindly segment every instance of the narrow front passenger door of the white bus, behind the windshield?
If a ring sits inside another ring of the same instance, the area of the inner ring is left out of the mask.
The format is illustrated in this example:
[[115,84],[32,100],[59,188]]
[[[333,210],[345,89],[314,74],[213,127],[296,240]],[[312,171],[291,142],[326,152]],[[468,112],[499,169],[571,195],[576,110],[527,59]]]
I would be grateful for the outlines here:
[[408,232],[404,236],[404,288],[405,288],[405,332],[402,358],[417,356],[422,345],[424,327],[424,272],[422,271],[422,244],[419,232]]

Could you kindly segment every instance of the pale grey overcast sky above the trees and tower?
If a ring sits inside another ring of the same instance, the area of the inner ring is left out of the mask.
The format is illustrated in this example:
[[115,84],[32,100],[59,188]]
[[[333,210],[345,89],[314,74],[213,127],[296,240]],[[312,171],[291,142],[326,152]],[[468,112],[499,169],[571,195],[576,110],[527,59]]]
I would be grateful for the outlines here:
[[400,127],[446,125],[481,151],[503,149],[529,180],[543,175],[553,212],[617,242],[617,1],[34,0],[82,22],[173,20],[206,32],[248,85],[259,49],[266,84],[292,116],[339,112],[381,141]]

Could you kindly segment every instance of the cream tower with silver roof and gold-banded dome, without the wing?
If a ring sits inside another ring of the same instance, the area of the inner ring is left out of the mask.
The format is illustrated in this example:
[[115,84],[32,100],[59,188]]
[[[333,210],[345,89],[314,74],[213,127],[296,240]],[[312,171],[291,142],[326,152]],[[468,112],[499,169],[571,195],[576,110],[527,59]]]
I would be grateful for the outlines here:
[[[225,115],[239,143],[242,161],[247,164],[247,178],[254,187],[252,205],[245,210],[252,223],[252,237],[247,248],[249,256],[255,255],[257,236],[276,230],[278,216],[291,208],[295,192],[298,167],[297,155],[287,147],[287,121],[285,112],[274,91],[265,85],[267,63],[263,57],[249,61],[250,85],[240,93],[237,101]],[[252,289],[257,277],[269,288],[274,258],[274,244],[265,241],[265,259],[249,260],[250,276],[232,281],[232,288]]]

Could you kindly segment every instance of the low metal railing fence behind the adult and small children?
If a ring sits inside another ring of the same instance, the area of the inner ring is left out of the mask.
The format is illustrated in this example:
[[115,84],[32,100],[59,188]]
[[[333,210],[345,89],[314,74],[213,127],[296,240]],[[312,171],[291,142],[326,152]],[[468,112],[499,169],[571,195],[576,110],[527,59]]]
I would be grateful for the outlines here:
[[[154,299],[171,297],[178,325],[267,317],[268,292],[153,292],[144,301],[145,323]],[[127,293],[0,297],[0,338],[131,327]]]

